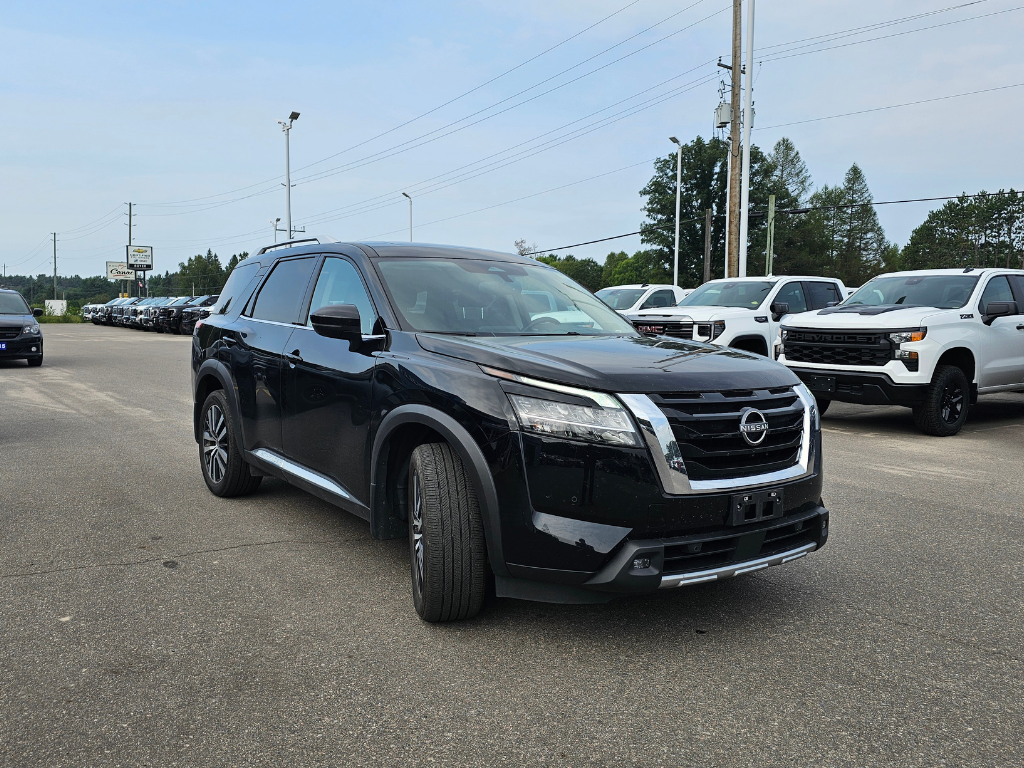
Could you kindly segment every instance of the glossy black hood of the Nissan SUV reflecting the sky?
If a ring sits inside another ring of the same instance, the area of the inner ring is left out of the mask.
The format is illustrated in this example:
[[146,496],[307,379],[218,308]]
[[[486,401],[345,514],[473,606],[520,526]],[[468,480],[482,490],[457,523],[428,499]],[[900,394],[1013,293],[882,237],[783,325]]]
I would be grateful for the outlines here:
[[460,337],[417,334],[424,349],[503,371],[606,392],[679,392],[792,386],[767,357],[646,336]]

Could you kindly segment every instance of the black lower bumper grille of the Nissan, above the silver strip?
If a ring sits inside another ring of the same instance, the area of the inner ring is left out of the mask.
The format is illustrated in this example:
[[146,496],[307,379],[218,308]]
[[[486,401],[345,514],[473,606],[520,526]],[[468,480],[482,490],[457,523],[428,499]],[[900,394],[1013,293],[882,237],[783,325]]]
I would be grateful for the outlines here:
[[780,552],[803,547],[816,542],[821,534],[821,519],[814,515],[808,519],[782,519],[778,524],[767,528],[764,541],[759,550],[744,552],[742,558],[737,557],[737,545],[743,537],[759,536],[760,531],[736,528],[724,534],[710,537],[685,537],[683,539],[665,540],[665,566],[663,575],[689,573],[695,570],[710,570],[737,559],[756,560],[759,557],[769,557]]

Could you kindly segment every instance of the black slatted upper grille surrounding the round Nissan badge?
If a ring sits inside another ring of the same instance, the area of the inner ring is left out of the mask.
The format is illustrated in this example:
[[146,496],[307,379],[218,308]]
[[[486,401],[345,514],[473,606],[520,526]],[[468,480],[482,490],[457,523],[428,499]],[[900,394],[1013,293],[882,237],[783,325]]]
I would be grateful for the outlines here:
[[[795,466],[804,436],[804,404],[793,387],[652,394],[679,445],[691,480],[751,477]],[[751,445],[739,432],[744,409],[765,416],[768,433]]]

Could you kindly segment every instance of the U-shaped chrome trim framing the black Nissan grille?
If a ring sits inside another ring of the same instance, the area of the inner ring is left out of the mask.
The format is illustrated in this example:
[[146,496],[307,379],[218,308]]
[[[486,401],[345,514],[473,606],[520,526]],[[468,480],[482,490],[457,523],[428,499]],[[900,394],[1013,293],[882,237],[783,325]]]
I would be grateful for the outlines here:
[[[729,477],[721,480],[691,480],[686,474],[686,465],[682,453],[672,432],[672,425],[654,401],[645,394],[618,394],[626,403],[640,427],[647,447],[650,450],[657,471],[662,488],[670,496],[688,496],[692,494],[714,493],[721,490],[746,490],[762,485],[774,485],[779,482],[806,477],[814,471],[814,461],[811,454],[812,414],[814,402],[812,395],[805,392],[802,385],[794,386],[794,392],[804,403],[804,432],[800,444],[800,458],[792,467],[775,472],[767,472],[749,477]],[[738,429],[738,427],[737,427]]]

